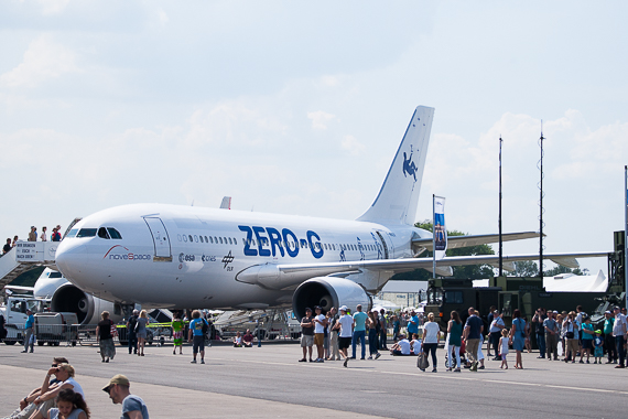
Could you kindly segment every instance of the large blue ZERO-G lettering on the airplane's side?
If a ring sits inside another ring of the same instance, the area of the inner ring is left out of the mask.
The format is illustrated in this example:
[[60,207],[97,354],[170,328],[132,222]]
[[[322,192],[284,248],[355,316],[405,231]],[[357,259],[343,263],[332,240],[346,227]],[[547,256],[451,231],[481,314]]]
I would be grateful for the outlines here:
[[[247,234],[245,240],[246,256],[274,257],[281,255],[284,257],[288,255],[294,258],[303,247],[308,248],[316,259],[324,255],[321,236],[312,230],[305,233],[306,238],[299,238],[288,228],[283,228],[281,233],[273,227],[238,226],[238,228]],[[257,246],[253,246],[253,240]],[[286,243],[295,243],[296,246],[289,246]]]

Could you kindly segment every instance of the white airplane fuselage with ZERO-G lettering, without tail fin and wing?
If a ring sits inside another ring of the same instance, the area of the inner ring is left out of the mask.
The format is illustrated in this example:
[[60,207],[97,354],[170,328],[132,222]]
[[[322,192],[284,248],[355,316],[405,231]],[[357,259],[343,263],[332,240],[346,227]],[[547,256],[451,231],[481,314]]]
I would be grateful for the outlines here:
[[289,304],[293,288],[238,281],[251,266],[411,257],[416,230],[401,224],[124,205],[76,224],[57,249],[56,265],[77,287],[109,301],[255,309]]

